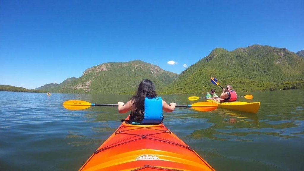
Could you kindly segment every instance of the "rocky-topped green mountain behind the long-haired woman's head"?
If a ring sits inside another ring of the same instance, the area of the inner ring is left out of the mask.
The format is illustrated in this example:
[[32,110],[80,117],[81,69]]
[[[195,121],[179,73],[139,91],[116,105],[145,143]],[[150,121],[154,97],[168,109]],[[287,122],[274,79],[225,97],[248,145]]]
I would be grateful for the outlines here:
[[86,69],[77,79],[71,78],[69,82],[62,82],[53,88],[43,90],[64,93],[134,93],[143,79],[150,79],[156,89],[161,89],[177,77],[176,73],[140,60],[109,62]]

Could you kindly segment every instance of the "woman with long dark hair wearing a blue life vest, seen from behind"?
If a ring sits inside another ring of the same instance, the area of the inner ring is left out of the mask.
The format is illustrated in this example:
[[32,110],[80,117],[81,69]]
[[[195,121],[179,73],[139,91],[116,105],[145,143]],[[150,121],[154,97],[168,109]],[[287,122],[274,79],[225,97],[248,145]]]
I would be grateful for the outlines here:
[[176,103],[168,105],[157,96],[153,82],[144,79],[138,85],[136,94],[125,105],[118,102],[118,112],[126,113],[131,110],[129,123],[132,124],[159,124],[164,119],[162,110],[172,112],[175,106]]

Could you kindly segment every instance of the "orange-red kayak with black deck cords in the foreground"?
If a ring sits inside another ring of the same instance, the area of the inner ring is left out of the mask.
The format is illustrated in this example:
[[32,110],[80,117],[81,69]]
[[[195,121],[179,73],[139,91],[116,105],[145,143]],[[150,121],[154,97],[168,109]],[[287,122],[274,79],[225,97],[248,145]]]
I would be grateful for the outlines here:
[[[128,120],[129,117],[126,118]],[[213,170],[164,124],[133,125],[123,121],[79,171]]]

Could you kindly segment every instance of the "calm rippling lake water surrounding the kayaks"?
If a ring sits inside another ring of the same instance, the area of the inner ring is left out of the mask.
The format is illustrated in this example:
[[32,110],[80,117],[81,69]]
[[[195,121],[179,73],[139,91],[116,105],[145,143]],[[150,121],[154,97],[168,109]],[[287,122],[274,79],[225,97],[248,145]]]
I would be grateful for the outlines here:
[[[164,124],[216,170],[304,170],[304,89],[252,94],[257,114],[177,108]],[[117,107],[66,110],[65,100],[126,102],[130,95],[0,91],[0,170],[78,170],[121,124]],[[191,104],[191,95],[163,95]]]

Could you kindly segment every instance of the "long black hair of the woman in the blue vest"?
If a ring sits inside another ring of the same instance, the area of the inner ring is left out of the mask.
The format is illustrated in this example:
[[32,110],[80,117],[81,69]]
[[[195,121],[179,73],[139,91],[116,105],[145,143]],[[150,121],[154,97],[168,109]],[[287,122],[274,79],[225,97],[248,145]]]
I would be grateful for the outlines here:
[[144,113],[144,101],[145,97],[155,97],[157,96],[155,92],[155,87],[152,81],[148,79],[144,79],[140,82],[138,85],[137,92],[134,96],[130,97],[130,100],[132,100],[132,111],[131,115],[136,120],[142,120],[143,119],[143,113]]

